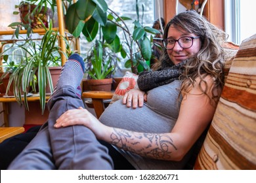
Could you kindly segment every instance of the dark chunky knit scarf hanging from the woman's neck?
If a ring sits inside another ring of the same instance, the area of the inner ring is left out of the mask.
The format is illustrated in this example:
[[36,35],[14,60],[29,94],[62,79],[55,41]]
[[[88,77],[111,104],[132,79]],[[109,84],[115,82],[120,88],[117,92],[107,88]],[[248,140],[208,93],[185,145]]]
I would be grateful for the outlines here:
[[174,80],[179,79],[179,76],[183,71],[184,63],[185,61],[182,61],[177,65],[171,65],[170,63],[163,62],[161,64],[161,69],[158,71],[143,71],[139,74],[137,80],[140,90],[152,90],[153,88],[169,84]]

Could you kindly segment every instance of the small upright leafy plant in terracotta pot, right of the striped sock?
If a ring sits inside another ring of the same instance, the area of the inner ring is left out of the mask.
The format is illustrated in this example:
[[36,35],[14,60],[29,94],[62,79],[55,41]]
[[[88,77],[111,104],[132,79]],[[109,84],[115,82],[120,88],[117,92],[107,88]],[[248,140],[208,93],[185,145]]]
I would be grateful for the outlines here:
[[117,61],[119,58],[110,44],[95,41],[85,58],[86,73],[89,75],[87,84],[91,90],[110,92],[113,82],[112,74],[116,71]]

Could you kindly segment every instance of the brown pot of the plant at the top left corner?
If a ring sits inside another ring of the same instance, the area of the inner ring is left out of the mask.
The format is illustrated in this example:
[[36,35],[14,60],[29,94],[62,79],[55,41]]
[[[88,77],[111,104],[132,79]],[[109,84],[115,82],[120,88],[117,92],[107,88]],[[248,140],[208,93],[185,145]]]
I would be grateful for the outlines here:
[[29,20],[31,20],[32,29],[40,29],[43,28],[39,19],[45,24],[45,27],[49,27],[50,19],[53,18],[53,10],[51,8],[42,7],[40,12],[35,12],[33,16],[28,16],[36,5],[22,5],[19,7],[20,10],[20,20],[23,24],[30,24]]

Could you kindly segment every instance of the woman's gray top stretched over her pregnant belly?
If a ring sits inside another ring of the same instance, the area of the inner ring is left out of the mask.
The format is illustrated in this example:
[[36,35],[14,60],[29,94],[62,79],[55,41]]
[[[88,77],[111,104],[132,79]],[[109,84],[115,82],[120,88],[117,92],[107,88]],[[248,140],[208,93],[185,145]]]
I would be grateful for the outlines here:
[[[148,91],[147,102],[141,108],[127,108],[121,100],[110,105],[100,116],[100,122],[111,127],[143,133],[168,133],[179,116],[181,80]],[[182,161],[163,161],[138,156],[117,148],[136,169],[182,169],[188,156]]]

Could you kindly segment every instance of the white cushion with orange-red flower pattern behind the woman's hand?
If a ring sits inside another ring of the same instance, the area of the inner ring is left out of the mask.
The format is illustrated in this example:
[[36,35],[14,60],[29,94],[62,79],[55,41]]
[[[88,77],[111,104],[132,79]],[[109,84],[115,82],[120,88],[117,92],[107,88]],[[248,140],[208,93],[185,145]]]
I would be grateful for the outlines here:
[[135,75],[129,71],[126,71],[122,80],[117,85],[117,88],[115,90],[115,93],[110,103],[114,103],[115,101],[122,99],[123,95],[125,95],[125,93],[128,92],[129,90],[133,88],[138,88],[137,78],[138,78],[138,75]]

